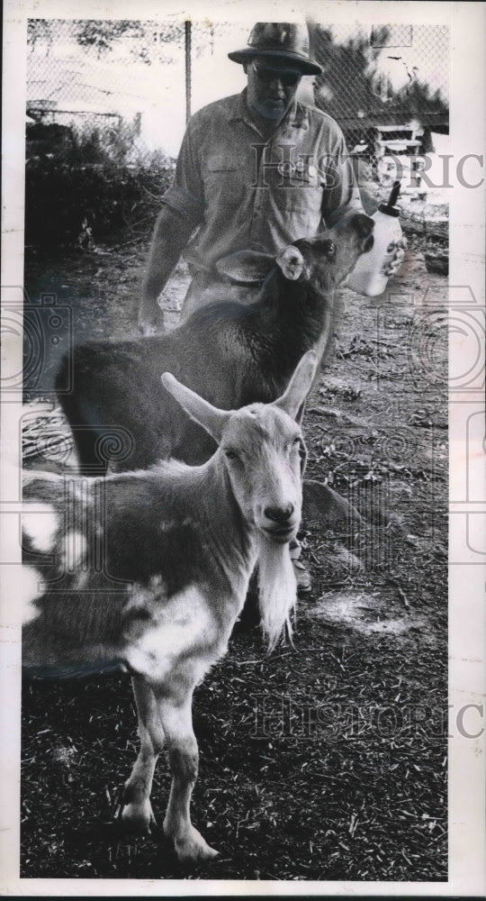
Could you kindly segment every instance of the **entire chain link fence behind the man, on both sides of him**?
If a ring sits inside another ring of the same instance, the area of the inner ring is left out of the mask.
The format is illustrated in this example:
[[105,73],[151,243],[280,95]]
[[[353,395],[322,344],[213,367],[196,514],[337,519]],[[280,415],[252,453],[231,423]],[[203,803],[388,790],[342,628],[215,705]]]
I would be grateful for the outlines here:
[[[114,158],[143,159],[154,150],[175,156],[186,100],[196,109],[239,87],[240,69],[227,53],[246,44],[250,24],[206,20],[187,26],[184,21],[31,19],[32,140],[33,126],[55,124],[78,136],[98,130]],[[341,125],[350,150],[361,141],[376,160],[390,141],[402,139],[419,141],[427,151],[428,134],[446,132],[445,25],[310,23],[310,32],[312,54],[323,67],[314,79],[315,103]],[[414,136],[405,134],[410,131]]]

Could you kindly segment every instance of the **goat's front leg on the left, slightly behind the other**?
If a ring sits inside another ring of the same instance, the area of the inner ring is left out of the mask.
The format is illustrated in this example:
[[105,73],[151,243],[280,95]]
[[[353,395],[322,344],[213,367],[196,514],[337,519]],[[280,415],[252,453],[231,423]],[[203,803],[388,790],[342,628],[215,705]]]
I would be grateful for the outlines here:
[[139,756],[123,791],[123,823],[137,832],[150,832],[155,817],[150,805],[152,779],[157,757],[164,746],[164,730],[158,715],[157,701],[147,682],[135,676],[131,680],[139,714]]

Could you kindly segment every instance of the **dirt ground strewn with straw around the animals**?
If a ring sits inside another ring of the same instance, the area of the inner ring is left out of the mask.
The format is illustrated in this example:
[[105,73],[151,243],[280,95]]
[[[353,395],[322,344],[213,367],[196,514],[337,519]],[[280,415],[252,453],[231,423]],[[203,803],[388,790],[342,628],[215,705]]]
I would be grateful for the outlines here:
[[[132,333],[146,250],[31,256],[31,305],[56,296],[76,341]],[[171,326],[186,284],[180,267]],[[257,628],[237,626],[196,692],[193,821],[220,856],[192,873],[177,863],[161,830],[165,760],[157,828],[122,832],[137,749],[128,678],[24,679],[23,878],[446,879],[446,287],[412,240],[388,296],[342,292],[337,350],[304,423],[307,475],[366,522],[304,522],[313,589],[295,647],[267,657]],[[66,326],[46,341],[27,433],[67,340]],[[58,422],[47,409],[46,430]]]

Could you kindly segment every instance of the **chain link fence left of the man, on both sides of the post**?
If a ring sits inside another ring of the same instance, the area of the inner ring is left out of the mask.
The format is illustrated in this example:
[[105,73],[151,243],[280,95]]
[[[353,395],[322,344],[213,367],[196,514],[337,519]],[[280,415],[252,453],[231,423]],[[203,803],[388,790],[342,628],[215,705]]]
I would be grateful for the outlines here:
[[[31,19],[28,159],[64,138],[129,165],[177,156],[188,115],[244,86],[247,24]],[[222,71],[221,71],[222,66]]]

